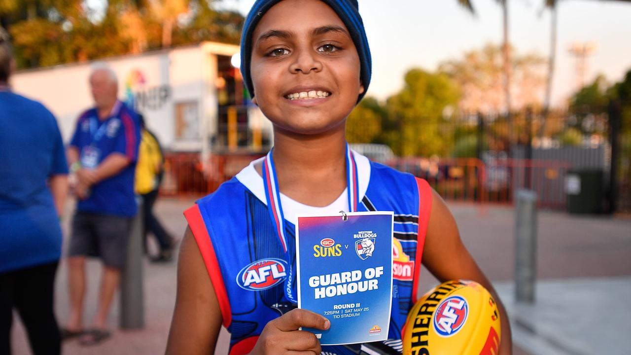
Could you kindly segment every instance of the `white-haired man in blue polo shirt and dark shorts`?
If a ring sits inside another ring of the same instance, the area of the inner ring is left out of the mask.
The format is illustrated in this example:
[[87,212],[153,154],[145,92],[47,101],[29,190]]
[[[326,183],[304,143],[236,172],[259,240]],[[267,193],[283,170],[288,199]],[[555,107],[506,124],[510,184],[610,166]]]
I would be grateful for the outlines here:
[[[62,331],[64,338],[80,335],[83,345],[109,337],[107,314],[136,214],[134,169],[140,141],[136,114],[117,99],[114,71],[98,65],[90,75],[90,87],[95,107],[81,114],[68,147],[78,203],[68,249],[71,313]],[[88,329],[81,323],[86,256],[98,256],[103,262],[98,310]]]

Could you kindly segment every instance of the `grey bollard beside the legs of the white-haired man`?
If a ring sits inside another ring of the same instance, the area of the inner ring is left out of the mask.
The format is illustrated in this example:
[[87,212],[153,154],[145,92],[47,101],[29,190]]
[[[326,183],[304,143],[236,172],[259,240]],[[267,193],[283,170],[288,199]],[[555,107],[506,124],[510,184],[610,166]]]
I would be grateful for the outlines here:
[[144,327],[143,302],[143,202],[137,198],[138,213],[131,222],[127,258],[121,274],[121,311],[119,327],[139,329]]

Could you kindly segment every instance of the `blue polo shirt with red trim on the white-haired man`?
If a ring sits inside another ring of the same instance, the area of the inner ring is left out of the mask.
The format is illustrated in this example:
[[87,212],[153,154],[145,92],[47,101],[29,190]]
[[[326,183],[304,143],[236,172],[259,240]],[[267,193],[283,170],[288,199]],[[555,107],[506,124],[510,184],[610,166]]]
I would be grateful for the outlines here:
[[[118,174],[92,186],[88,198],[77,203],[78,211],[125,217],[136,214],[134,171],[139,142],[138,117],[120,101],[106,119],[99,119],[95,108],[81,114],[70,145],[79,151],[82,164],[86,165],[89,160],[93,166],[87,167],[95,168],[112,153],[125,155],[130,164]],[[86,159],[86,155],[90,159]]]

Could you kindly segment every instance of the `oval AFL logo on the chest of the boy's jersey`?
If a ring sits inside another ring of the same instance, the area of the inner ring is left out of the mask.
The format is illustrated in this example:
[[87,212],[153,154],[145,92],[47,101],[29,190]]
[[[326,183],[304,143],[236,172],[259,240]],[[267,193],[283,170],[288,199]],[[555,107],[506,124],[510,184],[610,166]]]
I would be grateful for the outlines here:
[[242,268],[237,274],[237,284],[248,291],[261,291],[274,287],[287,277],[283,260],[262,259]]

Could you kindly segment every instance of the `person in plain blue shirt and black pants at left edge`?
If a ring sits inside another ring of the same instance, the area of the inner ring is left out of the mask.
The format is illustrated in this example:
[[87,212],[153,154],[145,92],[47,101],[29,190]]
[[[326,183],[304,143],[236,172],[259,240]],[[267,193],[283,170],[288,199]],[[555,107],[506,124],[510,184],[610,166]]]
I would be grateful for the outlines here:
[[9,89],[13,63],[0,28],[0,354],[11,354],[14,308],[33,354],[59,354],[53,299],[68,165],[55,117]]

